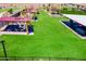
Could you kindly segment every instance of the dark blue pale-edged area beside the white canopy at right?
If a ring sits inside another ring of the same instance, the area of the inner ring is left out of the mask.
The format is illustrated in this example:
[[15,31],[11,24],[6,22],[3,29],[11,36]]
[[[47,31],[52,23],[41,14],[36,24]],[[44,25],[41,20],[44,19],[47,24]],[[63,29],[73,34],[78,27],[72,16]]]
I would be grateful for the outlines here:
[[70,22],[62,22],[64,23],[67,27],[70,27],[72,30],[81,35],[82,37],[86,37],[86,27],[78,24],[78,23],[73,23],[73,26],[71,26]]

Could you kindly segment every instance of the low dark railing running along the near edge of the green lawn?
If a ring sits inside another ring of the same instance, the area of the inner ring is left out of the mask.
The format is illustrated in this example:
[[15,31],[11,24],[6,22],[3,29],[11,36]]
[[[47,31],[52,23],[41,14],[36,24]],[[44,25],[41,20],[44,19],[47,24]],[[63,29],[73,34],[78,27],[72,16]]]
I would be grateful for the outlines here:
[[[0,61],[5,61],[5,57],[0,57]],[[86,59],[75,57],[45,57],[45,56],[11,56],[8,61],[86,61]]]

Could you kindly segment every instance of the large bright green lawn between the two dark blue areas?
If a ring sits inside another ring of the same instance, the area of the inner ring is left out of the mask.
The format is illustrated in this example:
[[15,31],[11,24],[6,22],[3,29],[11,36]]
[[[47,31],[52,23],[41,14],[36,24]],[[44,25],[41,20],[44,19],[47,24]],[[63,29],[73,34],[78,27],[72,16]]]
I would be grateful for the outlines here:
[[[82,40],[60,22],[65,17],[51,17],[47,12],[39,14],[33,23],[34,36],[2,36],[8,56],[51,56],[86,59],[86,40]],[[0,47],[0,56],[3,56]]]

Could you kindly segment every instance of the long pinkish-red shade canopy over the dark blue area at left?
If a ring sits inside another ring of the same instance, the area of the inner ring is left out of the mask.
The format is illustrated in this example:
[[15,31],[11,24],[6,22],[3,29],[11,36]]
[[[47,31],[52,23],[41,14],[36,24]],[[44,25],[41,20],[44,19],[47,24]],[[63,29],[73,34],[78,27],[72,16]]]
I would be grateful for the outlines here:
[[0,17],[0,22],[29,22],[29,17]]

